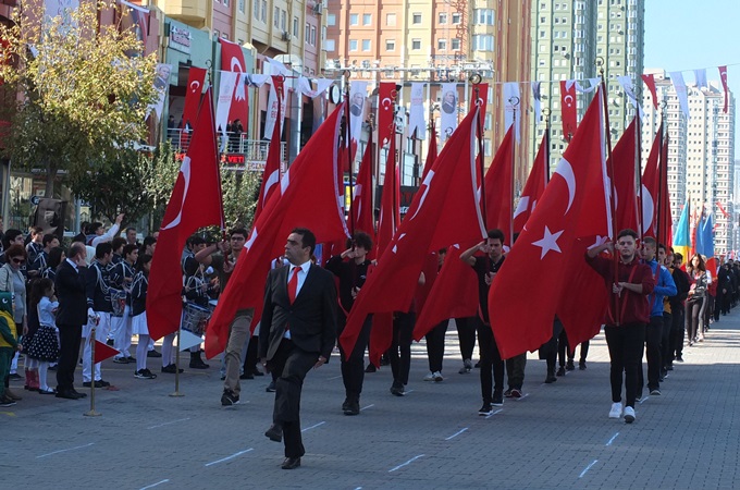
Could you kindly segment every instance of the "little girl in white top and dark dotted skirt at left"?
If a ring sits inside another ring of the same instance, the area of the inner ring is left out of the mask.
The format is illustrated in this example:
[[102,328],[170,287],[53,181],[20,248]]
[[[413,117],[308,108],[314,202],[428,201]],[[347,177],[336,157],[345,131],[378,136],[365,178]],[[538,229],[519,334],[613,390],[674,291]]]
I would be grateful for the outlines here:
[[54,320],[59,302],[54,295],[54,283],[51,279],[42,278],[34,282],[30,290],[30,307],[38,314],[38,330],[26,350],[26,355],[34,364],[38,363],[38,392],[41,394],[57,393],[47,384],[49,363],[59,358],[59,336]]

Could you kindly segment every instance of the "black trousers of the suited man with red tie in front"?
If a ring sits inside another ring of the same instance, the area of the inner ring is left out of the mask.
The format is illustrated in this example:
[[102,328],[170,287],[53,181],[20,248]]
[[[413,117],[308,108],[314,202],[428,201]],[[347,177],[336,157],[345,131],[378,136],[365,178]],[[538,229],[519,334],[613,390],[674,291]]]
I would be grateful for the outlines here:
[[283,427],[285,457],[306,454],[300,437],[300,392],[306,375],[318,359],[319,353],[301,351],[288,339],[283,339],[268,363],[268,368],[278,377],[272,421]]

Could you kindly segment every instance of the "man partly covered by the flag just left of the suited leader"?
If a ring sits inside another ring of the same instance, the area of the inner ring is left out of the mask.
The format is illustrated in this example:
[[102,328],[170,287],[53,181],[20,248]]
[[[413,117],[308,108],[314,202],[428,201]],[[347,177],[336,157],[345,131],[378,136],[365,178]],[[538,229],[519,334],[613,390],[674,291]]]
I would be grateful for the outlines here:
[[[236,260],[239,258],[247,240],[247,230],[237,228],[230,233],[230,243],[212,244],[195,255],[195,259],[206,267],[212,267],[219,274],[219,287],[223,291],[231,278]],[[219,252],[220,250],[220,252]],[[223,394],[221,405],[232,406],[239,403],[242,385],[239,383],[239,370],[242,367],[242,351],[249,336],[249,327],[255,315],[255,308],[239,309],[229,327],[229,341],[224,351],[226,372],[223,380]],[[200,353],[198,353],[200,360]],[[190,360],[190,367],[194,360]],[[201,362],[202,363],[202,362]],[[203,363],[205,364],[205,363]],[[208,367],[208,365],[206,365]]]

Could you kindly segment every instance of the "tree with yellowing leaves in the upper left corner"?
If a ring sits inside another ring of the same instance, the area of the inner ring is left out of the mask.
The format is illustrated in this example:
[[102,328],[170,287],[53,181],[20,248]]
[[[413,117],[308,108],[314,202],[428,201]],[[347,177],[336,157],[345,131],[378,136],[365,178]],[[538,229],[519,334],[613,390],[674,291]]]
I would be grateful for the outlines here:
[[112,156],[146,139],[157,59],[144,56],[132,28],[100,25],[99,14],[115,8],[109,0],[81,2],[64,17],[44,8],[21,0],[13,24],[0,25],[0,81],[21,95],[5,156],[45,169],[51,197],[60,170],[73,181],[110,171],[120,161]]

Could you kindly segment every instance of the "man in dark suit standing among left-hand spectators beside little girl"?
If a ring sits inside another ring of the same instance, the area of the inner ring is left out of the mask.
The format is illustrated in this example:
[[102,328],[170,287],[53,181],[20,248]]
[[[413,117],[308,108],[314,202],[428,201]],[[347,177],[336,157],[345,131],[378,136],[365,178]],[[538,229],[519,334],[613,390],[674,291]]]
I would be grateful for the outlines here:
[[54,278],[59,298],[57,327],[59,328],[59,366],[57,368],[57,397],[78,400],[87,396],[74,389],[74,370],[79,355],[83,326],[87,322],[87,295],[85,294],[85,265],[87,249],[75,242],[66,259],[60,264]]

